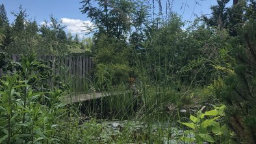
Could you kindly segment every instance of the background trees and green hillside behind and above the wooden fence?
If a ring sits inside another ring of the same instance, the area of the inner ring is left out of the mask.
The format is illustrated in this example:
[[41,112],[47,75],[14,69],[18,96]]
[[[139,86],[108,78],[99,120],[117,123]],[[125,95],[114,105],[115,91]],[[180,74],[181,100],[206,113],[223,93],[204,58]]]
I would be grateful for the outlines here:
[[[0,49],[8,54],[55,54],[80,53],[86,45],[66,36],[62,21],[50,16],[40,27],[36,20],[29,19],[26,10],[19,6],[19,12],[12,12],[14,23],[10,25],[5,7],[0,6]],[[2,20],[3,19],[3,20]],[[76,41],[76,42],[75,42]],[[76,51],[70,51],[72,48]]]

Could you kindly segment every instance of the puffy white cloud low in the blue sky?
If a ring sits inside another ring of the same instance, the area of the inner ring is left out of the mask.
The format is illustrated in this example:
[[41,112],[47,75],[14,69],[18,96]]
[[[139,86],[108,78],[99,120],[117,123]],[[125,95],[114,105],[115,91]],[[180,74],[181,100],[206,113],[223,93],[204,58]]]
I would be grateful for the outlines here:
[[71,32],[71,34],[78,34],[81,38],[88,32],[86,27],[93,27],[91,21],[82,21],[81,19],[62,18],[62,24],[67,26],[66,29],[68,32]]

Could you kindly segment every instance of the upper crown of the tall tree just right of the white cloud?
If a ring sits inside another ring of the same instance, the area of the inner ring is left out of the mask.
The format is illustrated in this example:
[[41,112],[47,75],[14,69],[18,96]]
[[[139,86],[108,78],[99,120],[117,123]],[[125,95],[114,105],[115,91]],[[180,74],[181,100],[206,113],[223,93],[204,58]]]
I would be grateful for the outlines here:
[[[94,27],[90,32],[96,32],[94,36],[107,34],[110,37],[125,41],[127,32],[131,29],[131,18],[134,12],[133,1],[101,1],[92,4],[90,0],[81,1],[81,12],[92,19]],[[96,4],[96,5],[95,5]]]

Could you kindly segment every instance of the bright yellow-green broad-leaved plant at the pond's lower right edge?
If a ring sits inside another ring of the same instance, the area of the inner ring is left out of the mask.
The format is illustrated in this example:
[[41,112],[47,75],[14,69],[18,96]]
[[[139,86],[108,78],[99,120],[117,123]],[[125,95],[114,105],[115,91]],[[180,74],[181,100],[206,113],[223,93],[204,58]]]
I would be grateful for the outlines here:
[[204,113],[199,110],[196,117],[190,115],[190,123],[180,122],[182,125],[192,129],[185,130],[181,140],[185,143],[193,143],[194,141],[197,143],[232,143],[231,132],[227,125],[222,124],[225,108],[225,105],[214,106],[214,110]]

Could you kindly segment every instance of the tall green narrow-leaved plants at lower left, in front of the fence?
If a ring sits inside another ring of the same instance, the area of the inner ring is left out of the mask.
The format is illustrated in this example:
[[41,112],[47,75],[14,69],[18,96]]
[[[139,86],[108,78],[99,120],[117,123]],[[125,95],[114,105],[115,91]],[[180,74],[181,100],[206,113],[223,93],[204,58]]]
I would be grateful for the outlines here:
[[[45,73],[47,66],[37,62],[34,56],[21,58],[19,66],[18,72],[1,78],[0,143],[59,142],[55,137],[56,120],[65,115],[66,108],[54,95],[63,95],[63,91],[40,88],[49,75]],[[53,103],[42,104],[46,97]]]

